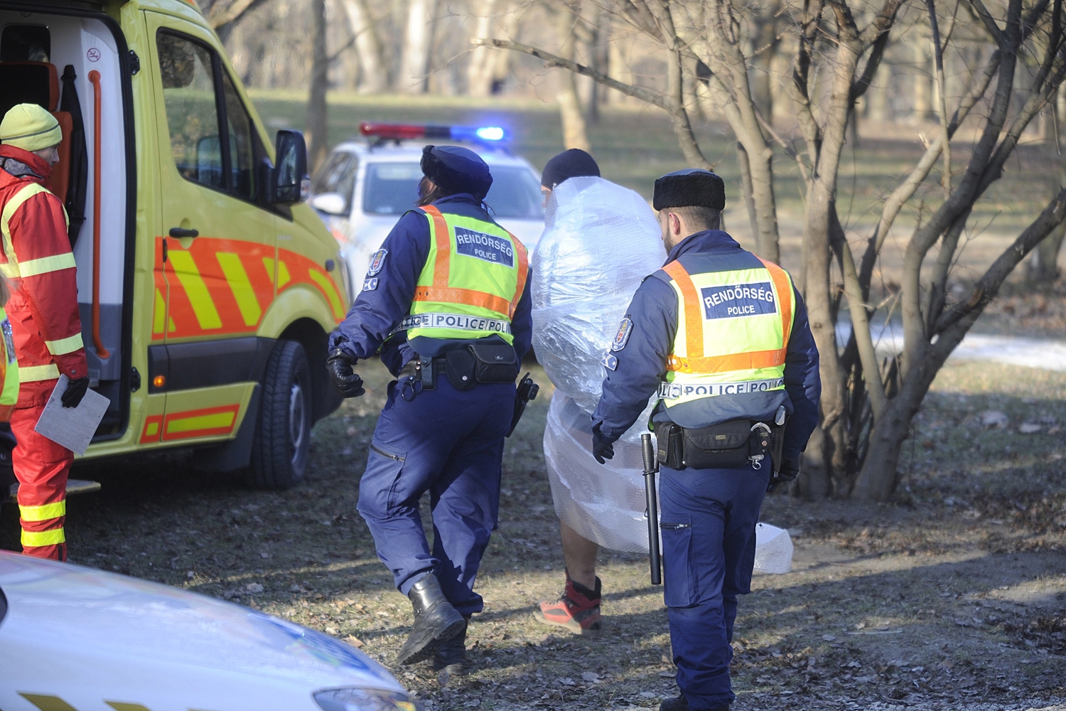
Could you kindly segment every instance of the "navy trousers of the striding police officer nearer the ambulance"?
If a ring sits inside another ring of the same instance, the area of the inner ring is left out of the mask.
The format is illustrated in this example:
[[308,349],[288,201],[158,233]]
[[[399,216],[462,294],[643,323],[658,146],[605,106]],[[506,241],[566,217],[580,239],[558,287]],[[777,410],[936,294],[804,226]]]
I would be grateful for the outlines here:
[[[397,589],[406,595],[419,578],[434,572],[456,610],[481,612],[473,583],[500,510],[503,439],[515,386],[461,391],[440,373],[435,390],[410,402],[399,394],[397,383],[389,384],[359,482],[359,514]],[[426,491],[432,551],[418,512]]]

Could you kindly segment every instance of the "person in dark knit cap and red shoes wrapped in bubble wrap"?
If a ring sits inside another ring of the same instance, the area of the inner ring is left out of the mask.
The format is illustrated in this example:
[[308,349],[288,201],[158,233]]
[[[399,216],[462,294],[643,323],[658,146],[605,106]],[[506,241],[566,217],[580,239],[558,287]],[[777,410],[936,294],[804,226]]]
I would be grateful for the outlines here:
[[[648,411],[615,445],[607,466],[592,453],[600,398],[619,322],[641,281],[666,253],[656,214],[637,193],[600,177],[592,156],[571,148],[540,179],[545,231],[532,259],[533,349],[555,386],[544,435],[545,464],[560,521],[566,583],[542,602],[542,623],[592,634],[601,627],[600,547],[647,552],[641,434]],[[623,343],[624,345],[624,343]]]

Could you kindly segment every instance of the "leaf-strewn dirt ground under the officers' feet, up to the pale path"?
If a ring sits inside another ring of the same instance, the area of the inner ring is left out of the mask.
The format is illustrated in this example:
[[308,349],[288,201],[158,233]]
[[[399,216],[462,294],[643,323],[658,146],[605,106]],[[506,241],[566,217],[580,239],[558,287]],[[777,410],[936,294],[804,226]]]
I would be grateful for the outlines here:
[[[355,510],[388,375],[376,363],[362,374],[367,395],[318,424],[307,481],[290,491],[252,491],[174,457],[82,467],[77,475],[103,488],[69,502],[71,560],[361,645],[427,709],[657,708],[676,695],[662,591],[644,558],[601,553],[598,637],[530,614],[562,582],[540,447],[550,388],[506,446],[500,527],[478,580],[486,609],[468,637],[472,674],[441,685],[427,665],[394,665],[409,603]],[[992,425],[989,410],[1002,414]],[[762,520],[791,531],[793,570],[756,576],[741,600],[736,708],[1062,704],[1064,424],[1066,373],[952,365],[916,423],[892,504],[770,498]],[[5,506],[0,547],[17,540]]]

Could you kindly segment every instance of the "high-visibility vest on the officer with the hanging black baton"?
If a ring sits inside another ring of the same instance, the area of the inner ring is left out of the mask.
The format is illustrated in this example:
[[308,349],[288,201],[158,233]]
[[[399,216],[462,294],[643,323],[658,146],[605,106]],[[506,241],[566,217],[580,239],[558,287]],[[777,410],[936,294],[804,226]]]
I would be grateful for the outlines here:
[[663,268],[678,298],[674,349],[659,397],[671,407],[717,395],[785,389],[795,318],[792,279],[777,264],[689,274]]

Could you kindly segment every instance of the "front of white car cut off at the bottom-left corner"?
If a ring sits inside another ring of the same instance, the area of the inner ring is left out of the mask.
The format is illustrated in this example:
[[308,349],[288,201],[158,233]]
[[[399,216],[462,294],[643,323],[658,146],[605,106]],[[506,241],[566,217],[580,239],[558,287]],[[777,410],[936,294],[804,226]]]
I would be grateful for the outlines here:
[[0,708],[419,711],[332,636],[134,578],[0,551]]

